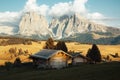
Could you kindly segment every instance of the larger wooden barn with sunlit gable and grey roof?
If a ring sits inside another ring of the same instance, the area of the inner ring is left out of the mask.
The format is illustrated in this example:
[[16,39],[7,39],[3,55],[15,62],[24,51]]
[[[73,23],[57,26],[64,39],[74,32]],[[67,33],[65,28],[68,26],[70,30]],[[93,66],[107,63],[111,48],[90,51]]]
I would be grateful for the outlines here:
[[31,55],[33,63],[40,68],[56,68],[60,69],[68,66],[72,56],[62,50],[43,49],[40,52]]

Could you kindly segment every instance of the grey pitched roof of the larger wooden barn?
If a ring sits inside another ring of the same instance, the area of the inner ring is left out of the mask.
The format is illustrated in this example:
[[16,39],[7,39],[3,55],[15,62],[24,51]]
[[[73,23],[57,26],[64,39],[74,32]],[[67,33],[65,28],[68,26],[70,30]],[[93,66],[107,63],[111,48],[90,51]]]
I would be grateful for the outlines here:
[[31,55],[31,57],[49,59],[50,57],[57,54],[58,52],[63,52],[64,54],[72,57],[71,55],[67,54],[66,52],[64,52],[62,50],[51,50],[51,49],[43,49],[43,50],[35,53],[34,55]]

